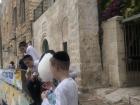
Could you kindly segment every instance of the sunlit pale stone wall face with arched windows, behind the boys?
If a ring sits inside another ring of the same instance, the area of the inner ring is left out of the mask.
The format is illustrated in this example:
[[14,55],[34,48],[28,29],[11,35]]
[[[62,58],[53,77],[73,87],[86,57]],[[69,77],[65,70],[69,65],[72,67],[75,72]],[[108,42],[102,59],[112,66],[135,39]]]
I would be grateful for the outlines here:
[[71,65],[80,69],[77,0],[57,0],[34,22],[33,32],[34,46],[40,54],[44,39],[55,51],[63,50],[63,42],[67,42]]

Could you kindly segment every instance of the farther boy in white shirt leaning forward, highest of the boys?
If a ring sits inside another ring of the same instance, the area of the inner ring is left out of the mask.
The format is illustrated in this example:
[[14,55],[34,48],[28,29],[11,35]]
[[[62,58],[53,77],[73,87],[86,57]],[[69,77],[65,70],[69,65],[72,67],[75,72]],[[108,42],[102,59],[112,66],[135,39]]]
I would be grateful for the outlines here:
[[19,49],[21,53],[25,55],[31,55],[34,61],[38,61],[40,59],[40,56],[38,55],[35,48],[33,48],[32,45],[28,45],[26,42],[20,42],[19,43]]

